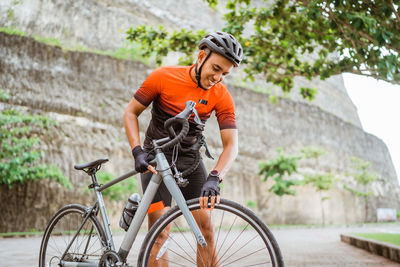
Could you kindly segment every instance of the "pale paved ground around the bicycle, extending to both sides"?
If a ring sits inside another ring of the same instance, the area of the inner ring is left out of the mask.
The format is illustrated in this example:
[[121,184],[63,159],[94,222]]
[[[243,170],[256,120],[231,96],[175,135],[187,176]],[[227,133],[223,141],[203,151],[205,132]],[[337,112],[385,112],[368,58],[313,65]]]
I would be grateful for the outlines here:
[[[313,229],[276,229],[273,233],[281,246],[286,266],[385,266],[400,267],[400,264],[372,255],[340,241],[341,233],[396,232],[400,224],[368,227],[326,227]],[[140,242],[143,236],[138,237]],[[116,235],[120,244],[121,235]],[[0,266],[37,266],[41,237],[0,238]],[[135,262],[138,243],[133,247],[130,263]]]

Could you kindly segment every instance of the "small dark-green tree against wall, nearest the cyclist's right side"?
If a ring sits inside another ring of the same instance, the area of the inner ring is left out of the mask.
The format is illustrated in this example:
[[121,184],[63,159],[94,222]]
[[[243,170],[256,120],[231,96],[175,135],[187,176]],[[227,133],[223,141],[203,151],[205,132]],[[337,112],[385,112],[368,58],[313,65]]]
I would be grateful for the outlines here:
[[[272,178],[275,183],[269,189],[270,192],[278,196],[296,195],[296,190],[292,188],[298,184],[295,179],[288,177],[297,172],[297,161],[299,156],[286,155],[282,148],[277,149],[278,156],[259,164],[259,175],[264,175],[264,182]],[[285,177],[286,176],[286,177]]]

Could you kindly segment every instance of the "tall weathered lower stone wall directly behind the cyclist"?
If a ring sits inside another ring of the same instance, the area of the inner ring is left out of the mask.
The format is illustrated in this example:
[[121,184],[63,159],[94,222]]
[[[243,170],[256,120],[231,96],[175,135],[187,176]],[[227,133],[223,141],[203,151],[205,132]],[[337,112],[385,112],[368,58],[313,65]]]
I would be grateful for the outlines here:
[[[51,138],[42,141],[42,149],[46,161],[60,167],[75,185],[73,190],[65,190],[42,181],[15,186],[13,191],[0,188],[0,209],[10,214],[2,216],[0,231],[43,229],[43,222],[65,203],[88,203],[91,196],[84,188],[90,180],[73,169],[76,163],[106,156],[110,162],[104,165],[105,171],[120,175],[133,168],[122,114],[151,68],[108,56],[68,52],[29,37],[0,33],[0,70],[0,88],[12,96],[0,103],[0,108],[17,108],[59,122],[51,131]],[[400,208],[396,173],[380,139],[314,105],[286,98],[272,104],[265,94],[234,86],[230,91],[236,104],[240,152],[226,177],[223,197],[242,204],[256,202],[256,211],[267,223],[320,223],[321,204],[313,188],[298,188],[296,197],[278,198],[268,192],[269,184],[257,175],[258,162],[275,156],[277,147],[299,153],[305,146],[320,146],[328,154],[318,165],[305,162],[304,171],[333,172],[344,178],[350,170],[351,156],[371,161],[381,180],[373,187],[377,196],[371,200],[369,219],[375,218],[376,207]],[[140,117],[142,130],[149,115],[146,110]],[[215,119],[207,123],[205,135],[212,154],[217,155],[222,145]],[[208,169],[214,164],[206,160]],[[344,191],[340,183],[328,195],[331,199],[324,203],[327,222],[363,220],[362,201]],[[122,206],[123,203],[109,206],[113,227],[117,227]]]

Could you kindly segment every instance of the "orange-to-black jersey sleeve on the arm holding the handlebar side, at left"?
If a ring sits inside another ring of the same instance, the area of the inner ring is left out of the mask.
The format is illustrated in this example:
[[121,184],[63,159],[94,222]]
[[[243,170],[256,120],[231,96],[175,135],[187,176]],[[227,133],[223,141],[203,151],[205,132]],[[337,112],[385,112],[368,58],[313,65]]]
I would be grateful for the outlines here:
[[136,91],[135,99],[146,107],[150,105],[160,94],[162,76],[163,71],[160,68],[154,70]]

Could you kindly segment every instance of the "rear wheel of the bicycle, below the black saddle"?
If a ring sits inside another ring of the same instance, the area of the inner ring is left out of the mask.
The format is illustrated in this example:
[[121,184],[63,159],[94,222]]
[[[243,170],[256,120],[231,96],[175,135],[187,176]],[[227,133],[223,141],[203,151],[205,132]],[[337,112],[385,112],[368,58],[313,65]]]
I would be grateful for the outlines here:
[[[39,253],[39,267],[60,266],[60,258],[79,229],[86,215],[86,207],[70,204],[59,209],[49,221],[43,234]],[[95,215],[90,215],[64,260],[98,262],[106,250],[106,235]]]

